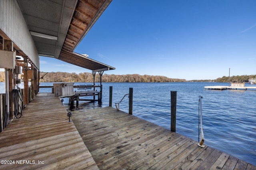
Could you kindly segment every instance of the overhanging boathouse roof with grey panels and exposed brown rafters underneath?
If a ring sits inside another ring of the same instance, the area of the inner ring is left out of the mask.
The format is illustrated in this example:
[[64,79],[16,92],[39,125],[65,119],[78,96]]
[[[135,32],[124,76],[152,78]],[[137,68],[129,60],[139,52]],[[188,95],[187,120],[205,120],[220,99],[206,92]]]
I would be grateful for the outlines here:
[[113,70],[74,49],[112,0],[17,0],[38,55],[89,70]]

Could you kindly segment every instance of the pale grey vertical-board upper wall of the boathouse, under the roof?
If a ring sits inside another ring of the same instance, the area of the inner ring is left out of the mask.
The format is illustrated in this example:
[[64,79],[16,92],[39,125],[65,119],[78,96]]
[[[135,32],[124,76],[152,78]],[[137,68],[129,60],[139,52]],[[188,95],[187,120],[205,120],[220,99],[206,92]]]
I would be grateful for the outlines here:
[[39,69],[39,55],[16,0],[0,0],[0,29]]

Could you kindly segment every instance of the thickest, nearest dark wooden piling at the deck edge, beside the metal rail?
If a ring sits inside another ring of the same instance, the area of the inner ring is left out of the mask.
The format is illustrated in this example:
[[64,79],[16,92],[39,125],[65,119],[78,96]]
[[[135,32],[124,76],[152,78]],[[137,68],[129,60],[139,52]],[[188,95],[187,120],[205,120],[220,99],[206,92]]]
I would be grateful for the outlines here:
[[171,131],[176,132],[177,91],[171,91]]

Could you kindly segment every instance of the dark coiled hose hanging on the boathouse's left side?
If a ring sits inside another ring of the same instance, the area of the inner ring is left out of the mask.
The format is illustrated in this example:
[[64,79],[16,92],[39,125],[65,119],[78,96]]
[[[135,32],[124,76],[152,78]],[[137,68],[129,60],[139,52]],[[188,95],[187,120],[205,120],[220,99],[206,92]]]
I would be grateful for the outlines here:
[[20,88],[12,90],[12,101],[14,103],[14,115],[16,118],[20,118],[22,115],[22,106],[20,102],[23,102],[23,96],[21,94]]

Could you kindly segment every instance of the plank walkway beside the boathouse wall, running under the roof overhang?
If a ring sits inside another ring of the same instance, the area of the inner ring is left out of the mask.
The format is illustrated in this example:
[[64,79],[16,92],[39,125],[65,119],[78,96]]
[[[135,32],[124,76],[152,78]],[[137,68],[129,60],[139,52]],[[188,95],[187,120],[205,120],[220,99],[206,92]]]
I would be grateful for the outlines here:
[[73,122],[67,121],[60,99],[39,93],[22,117],[0,133],[0,160],[9,161],[0,169],[97,170]]

